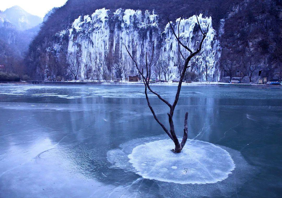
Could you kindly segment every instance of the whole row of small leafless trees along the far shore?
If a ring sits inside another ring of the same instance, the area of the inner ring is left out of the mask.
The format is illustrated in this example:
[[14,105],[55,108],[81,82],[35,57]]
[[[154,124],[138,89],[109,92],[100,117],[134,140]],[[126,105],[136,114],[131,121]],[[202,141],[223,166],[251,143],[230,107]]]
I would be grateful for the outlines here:
[[[164,52],[155,53],[152,58],[152,77],[161,80],[171,80],[171,66],[177,67],[178,75],[181,76],[185,61],[178,53],[173,59]],[[182,53],[183,55],[184,53]],[[225,76],[229,76],[230,80],[235,77],[238,71],[248,76],[251,82],[252,77],[257,75],[260,66],[260,58],[253,52],[246,52],[242,56],[233,57],[229,53],[222,51],[221,64],[214,63],[212,54],[206,50],[202,50],[196,57],[193,57],[189,63],[190,70],[186,70],[184,74],[184,81],[195,81],[204,78],[204,80],[219,80],[221,72],[224,71]],[[64,79],[88,79],[88,80],[115,80],[124,79],[130,73],[138,74],[133,62],[126,54],[121,54],[119,57],[114,57],[112,60],[107,58],[106,54],[102,52],[89,54],[82,60],[80,53],[60,53],[55,55],[50,52],[46,58],[45,75],[51,80],[64,80]],[[140,58],[141,59],[141,58]],[[140,70],[145,69],[143,60],[138,61]],[[196,65],[198,64],[198,65]],[[198,72],[193,70],[197,66]],[[212,72],[213,71],[213,72]],[[213,76],[211,76],[213,74]],[[83,75],[83,76],[81,76]]]

